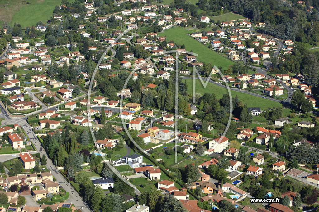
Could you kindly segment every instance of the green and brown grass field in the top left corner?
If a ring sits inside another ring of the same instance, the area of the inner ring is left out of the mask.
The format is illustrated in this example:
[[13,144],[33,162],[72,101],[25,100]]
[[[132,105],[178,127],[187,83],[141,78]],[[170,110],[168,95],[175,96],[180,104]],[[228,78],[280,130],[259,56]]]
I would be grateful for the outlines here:
[[60,4],[60,0],[0,0],[0,22],[10,25],[16,22],[22,27],[35,25],[38,21],[46,23],[55,6]]

